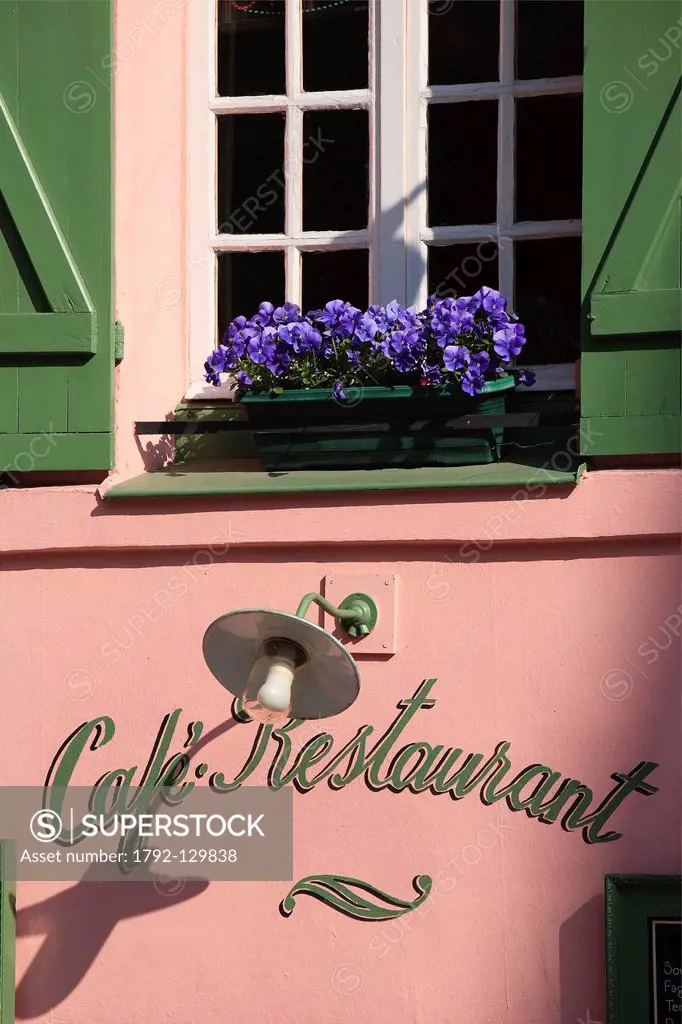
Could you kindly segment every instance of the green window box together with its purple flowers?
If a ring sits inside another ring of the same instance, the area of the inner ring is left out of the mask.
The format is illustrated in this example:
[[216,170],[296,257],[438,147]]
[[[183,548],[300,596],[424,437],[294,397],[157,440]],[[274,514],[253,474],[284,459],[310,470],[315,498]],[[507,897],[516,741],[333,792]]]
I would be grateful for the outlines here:
[[525,337],[506,307],[489,288],[420,312],[263,302],[229,325],[206,379],[236,377],[266,470],[496,462],[506,394],[532,383],[514,366]]

